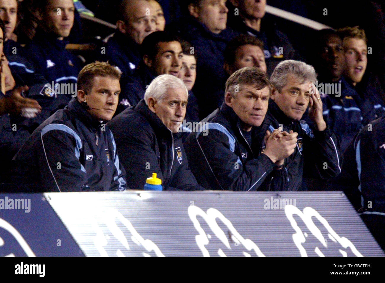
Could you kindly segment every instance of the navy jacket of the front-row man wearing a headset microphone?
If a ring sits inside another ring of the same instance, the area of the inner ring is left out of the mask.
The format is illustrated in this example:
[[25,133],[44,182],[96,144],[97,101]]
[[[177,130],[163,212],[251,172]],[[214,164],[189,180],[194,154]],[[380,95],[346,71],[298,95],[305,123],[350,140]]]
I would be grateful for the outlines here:
[[127,188],[112,132],[76,98],[32,133],[12,165],[15,187],[31,192]]

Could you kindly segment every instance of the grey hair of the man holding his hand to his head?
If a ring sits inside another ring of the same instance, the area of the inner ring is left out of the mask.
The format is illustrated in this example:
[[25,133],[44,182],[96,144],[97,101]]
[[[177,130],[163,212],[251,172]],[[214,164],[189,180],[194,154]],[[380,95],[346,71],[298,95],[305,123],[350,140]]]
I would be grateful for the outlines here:
[[304,84],[305,82],[315,84],[317,79],[317,74],[313,66],[301,61],[285,60],[275,67],[273,74],[271,74],[270,77],[271,84],[273,84],[278,92],[281,92],[287,84],[287,77],[289,74],[297,77],[301,84]]

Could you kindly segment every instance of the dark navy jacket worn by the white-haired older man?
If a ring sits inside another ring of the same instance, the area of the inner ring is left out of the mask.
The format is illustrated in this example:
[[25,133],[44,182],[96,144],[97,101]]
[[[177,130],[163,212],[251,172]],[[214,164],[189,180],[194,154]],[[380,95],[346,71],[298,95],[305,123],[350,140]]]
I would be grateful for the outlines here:
[[142,99],[109,123],[131,189],[143,189],[157,173],[163,190],[203,190],[189,169],[183,133],[172,133]]

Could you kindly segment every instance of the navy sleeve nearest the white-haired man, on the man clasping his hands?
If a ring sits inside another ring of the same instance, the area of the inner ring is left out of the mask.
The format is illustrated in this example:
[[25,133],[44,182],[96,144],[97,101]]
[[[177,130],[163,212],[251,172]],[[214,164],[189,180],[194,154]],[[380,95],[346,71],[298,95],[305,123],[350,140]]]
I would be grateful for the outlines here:
[[256,191],[273,171],[274,164],[265,154],[242,163],[234,153],[234,144],[222,131],[210,129],[206,136],[200,133],[197,141],[214,178],[224,190]]

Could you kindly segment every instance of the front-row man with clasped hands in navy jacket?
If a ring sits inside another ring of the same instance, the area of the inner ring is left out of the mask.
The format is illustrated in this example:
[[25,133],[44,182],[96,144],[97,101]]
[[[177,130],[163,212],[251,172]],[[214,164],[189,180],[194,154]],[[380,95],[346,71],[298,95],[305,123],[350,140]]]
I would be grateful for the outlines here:
[[245,67],[229,77],[223,105],[185,143],[201,186],[230,191],[285,189],[288,172],[282,168],[294,152],[297,133],[266,132],[270,92],[266,74],[257,68]]

